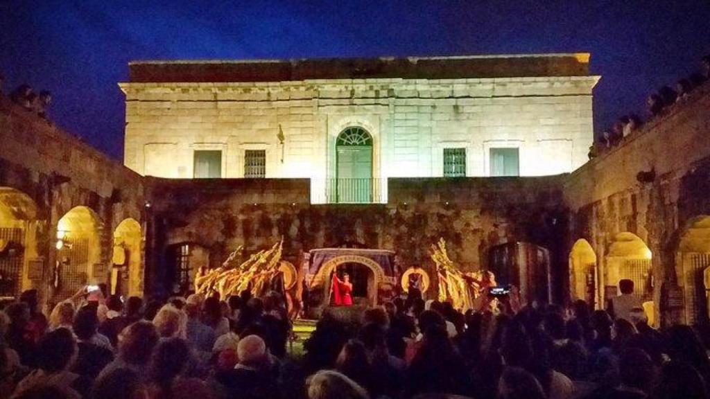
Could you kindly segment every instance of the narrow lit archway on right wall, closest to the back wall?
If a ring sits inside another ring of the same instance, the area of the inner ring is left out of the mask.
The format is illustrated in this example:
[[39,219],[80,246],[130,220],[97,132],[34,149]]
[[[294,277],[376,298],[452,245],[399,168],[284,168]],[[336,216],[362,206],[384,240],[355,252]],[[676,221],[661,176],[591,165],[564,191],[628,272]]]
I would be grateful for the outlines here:
[[569,253],[569,290],[572,300],[596,307],[596,254],[589,241],[579,239]]

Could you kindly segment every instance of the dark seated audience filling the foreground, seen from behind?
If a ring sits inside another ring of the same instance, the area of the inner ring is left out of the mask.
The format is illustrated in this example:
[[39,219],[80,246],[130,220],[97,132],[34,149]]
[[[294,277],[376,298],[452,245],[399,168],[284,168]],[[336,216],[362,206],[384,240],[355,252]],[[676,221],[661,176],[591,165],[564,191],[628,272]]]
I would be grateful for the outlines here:
[[709,398],[694,329],[633,303],[462,314],[411,290],[356,324],[327,312],[294,356],[278,293],[82,292],[45,317],[28,291],[0,312],[0,398]]

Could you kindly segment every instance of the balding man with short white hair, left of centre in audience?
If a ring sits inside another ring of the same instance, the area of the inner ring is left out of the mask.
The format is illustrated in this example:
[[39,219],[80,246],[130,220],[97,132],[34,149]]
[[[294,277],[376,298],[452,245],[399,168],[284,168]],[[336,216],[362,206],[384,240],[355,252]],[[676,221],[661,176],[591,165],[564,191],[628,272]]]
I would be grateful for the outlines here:
[[217,373],[215,378],[222,383],[226,397],[238,399],[261,399],[278,397],[278,386],[268,370],[266,343],[256,335],[239,340],[236,348],[239,359],[234,370]]

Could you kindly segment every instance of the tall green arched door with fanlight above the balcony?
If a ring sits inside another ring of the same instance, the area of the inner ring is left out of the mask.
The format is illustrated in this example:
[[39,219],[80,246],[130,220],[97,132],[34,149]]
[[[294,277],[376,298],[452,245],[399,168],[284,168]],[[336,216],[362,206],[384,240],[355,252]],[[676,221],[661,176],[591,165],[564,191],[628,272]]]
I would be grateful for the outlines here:
[[372,136],[351,126],[338,135],[336,155],[336,202],[368,203],[373,200]]

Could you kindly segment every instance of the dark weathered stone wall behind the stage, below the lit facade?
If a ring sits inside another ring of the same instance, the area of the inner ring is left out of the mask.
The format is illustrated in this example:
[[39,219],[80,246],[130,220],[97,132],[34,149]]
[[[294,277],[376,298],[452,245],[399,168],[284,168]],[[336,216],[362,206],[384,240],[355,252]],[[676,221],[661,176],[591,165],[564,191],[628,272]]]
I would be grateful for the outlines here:
[[467,270],[485,268],[491,246],[513,241],[550,249],[553,270],[566,261],[559,256],[567,229],[561,176],[390,179],[390,202],[368,205],[310,205],[308,180],[150,181],[156,256],[172,244],[197,244],[219,266],[239,245],[254,253],[283,236],[294,263],[299,251],[359,245],[395,250],[404,268],[430,269],[439,238]]

